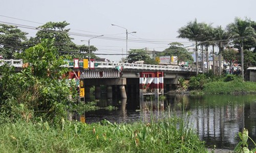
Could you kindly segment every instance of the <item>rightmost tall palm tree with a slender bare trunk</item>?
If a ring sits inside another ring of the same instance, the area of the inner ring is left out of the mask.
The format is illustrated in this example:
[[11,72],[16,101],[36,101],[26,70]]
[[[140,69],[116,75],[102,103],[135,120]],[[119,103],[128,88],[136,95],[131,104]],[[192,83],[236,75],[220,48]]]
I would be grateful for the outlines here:
[[233,38],[233,40],[238,40],[240,43],[240,53],[241,53],[241,68],[242,68],[242,78],[244,80],[244,42],[248,39],[255,39],[255,31],[251,27],[251,21],[249,19],[242,20],[238,17],[234,19],[233,23],[227,25],[228,35]]

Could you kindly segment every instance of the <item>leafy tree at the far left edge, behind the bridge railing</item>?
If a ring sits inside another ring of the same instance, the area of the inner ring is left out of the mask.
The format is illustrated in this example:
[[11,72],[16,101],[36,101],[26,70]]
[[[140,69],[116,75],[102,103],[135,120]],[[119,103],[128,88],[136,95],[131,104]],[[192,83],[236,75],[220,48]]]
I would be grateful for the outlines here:
[[13,25],[0,24],[0,55],[4,59],[14,59],[14,54],[23,50],[27,34]]

